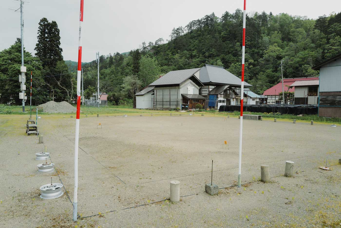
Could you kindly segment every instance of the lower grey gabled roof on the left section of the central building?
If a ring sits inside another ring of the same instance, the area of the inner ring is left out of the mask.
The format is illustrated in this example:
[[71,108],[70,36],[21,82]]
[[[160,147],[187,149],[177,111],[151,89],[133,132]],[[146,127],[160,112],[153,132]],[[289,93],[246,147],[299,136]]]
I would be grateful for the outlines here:
[[184,81],[186,81],[190,77],[194,76],[193,74],[195,72],[197,72],[199,69],[200,68],[169,71],[164,76],[162,76],[158,80],[151,83],[149,86],[152,86],[152,85],[154,85],[154,86],[157,86],[157,85],[159,85],[159,86],[160,85],[175,85],[175,84],[180,85],[181,83],[183,83]]

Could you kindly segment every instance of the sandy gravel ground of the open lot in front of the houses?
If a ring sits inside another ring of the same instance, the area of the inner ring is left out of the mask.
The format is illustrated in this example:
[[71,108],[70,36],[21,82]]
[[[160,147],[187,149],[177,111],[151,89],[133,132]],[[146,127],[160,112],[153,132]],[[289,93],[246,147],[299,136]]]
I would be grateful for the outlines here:
[[[26,120],[0,117],[0,227],[341,226],[341,126],[244,120],[244,185],[237,188],[238,118],[81,118],[78,212],[83,219],[75,223],[75,118],[38,120],[56,164],[53,173],[38,173],[42,162],[34,153],[44,145],[26,135]],[[331,171],[319,169],[326,159]],[[218,196],[205,193],[212,160]],[[283,176],[286,160],[295,162],[294,177]],[[259,181],[263,164],[270,166],[270,183]],[[68,194],[41,199],[39,187],[50,177]],[[181,182],[181,201],[170,203],[169,182],[175,179]]]

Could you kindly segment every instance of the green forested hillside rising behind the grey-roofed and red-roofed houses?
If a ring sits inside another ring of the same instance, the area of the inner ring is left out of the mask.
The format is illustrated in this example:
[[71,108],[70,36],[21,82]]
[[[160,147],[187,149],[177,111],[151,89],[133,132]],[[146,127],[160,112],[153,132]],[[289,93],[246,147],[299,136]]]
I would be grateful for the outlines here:
[[[285,78],[312,77],[318,75],[312,66],[341,52],[341,13],[313,20],[262,12],[249,14],[246,19],[245,80],[258,94],[279,82],[281,59]],[[131,51],[128,56],[119,53],[101,56],[102,90],[114,93],[114,97],[122,96],[123,78],[134,74],[143,82],[141,86],[152,82],[155,77],[146,80],[141,73],[146,68],[144,58],[154,59],[154,64],[160,66],[154,73],[207,63],[241,75],[242,11],[239,9],[225,12],[220,18],[212,13],[174,28],[167,41],[163,43],[160,38],[154,43],[143,42],[140,50]],[[96,64],[85,64],[84,70],[87,85],[96,85]]]

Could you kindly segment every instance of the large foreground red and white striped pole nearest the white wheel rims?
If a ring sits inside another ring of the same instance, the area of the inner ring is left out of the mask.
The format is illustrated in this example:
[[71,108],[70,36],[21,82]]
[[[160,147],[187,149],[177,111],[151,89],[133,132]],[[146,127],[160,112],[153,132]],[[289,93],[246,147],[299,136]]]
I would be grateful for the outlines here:
[[77,113],[75,134],[75,189],[73,194],[73,220],[77,221],[77,191],[78,191],[78,138],[79,138],[79,113],[80,113],[80,77],[82,64],[82,23],[83,23],[84,0],[80,0],[79,36],[78,36],[78,69],[77,69]]

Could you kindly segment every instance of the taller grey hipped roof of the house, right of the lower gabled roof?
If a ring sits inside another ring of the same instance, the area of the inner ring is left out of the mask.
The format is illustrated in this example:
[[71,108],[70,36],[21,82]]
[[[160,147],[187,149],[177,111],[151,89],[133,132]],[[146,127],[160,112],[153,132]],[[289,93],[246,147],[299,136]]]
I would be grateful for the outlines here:
[[[205,64],[199,71],[199,79],[202,83],[219,83],[227,85],[241,85],[241,79],[225,70],[224,67]],[[244,86],[252,86],[244,82]]]

